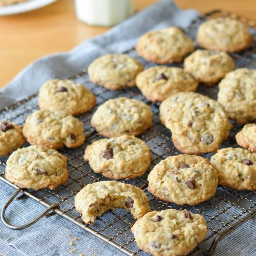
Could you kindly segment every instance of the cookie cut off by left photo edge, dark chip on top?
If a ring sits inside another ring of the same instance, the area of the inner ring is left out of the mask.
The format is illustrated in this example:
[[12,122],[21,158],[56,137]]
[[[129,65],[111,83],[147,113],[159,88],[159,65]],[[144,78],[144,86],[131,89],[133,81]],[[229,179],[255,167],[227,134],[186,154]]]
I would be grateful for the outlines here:
[[22,128],[14,122],[0,121],[0,157],[22,147],[26,142]]

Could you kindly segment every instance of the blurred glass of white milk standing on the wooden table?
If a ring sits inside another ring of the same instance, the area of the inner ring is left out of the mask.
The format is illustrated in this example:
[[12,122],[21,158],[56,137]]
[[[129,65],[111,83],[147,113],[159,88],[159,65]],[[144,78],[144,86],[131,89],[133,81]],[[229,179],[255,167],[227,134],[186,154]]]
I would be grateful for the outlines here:
[[77,17],[93,26],[113,26],[134,13],[132,0],[74,0]]

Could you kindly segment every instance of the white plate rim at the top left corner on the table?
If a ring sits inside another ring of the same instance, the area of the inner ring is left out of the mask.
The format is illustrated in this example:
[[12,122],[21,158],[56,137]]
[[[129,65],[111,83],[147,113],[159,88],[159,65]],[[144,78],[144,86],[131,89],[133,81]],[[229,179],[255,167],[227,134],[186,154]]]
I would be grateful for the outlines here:
[[54,3],[56,1],[57,0],[28,0],[27,2],[20,4],[0,6],[0,16],[25,13],[28,12],[29,10],[35,10],[48,4]]

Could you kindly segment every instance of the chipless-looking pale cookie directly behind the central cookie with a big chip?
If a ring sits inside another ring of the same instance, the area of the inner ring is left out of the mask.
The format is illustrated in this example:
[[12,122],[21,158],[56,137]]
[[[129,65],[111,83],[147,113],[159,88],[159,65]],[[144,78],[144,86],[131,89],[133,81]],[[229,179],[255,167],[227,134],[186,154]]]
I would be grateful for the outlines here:
[[91,124],[105,137],[137,136],[151,127],[152,116],[150,107],[144,102],[122,97],[100,105]]

